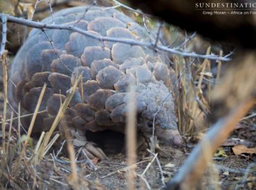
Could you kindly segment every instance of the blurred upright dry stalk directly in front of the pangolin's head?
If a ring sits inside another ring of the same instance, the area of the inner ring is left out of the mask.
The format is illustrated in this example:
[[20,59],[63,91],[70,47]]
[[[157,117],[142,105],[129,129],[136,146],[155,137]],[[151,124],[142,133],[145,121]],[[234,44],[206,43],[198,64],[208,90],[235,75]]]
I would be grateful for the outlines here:
[[130,95],[128,103],[128,115],[126,124],[126,149],[127,149],[127,165],[129,171],[127,173],[127,189],[135,189],[134,178],[135,168],[131,167],[136,162],[136,105],[135,105],[135,86],[130,84]]

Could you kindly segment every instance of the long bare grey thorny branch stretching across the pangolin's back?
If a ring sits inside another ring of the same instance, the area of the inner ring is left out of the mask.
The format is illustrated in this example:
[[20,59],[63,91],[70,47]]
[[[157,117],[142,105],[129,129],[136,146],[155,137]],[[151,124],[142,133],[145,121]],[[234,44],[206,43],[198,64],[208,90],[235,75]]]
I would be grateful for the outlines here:
[[86,30],[82,30],[75,26],[66,26],[64,24],[39,23],[39,22],[30,21],[30,20],[23,19],[23,18],[12,17],[10,15],[5,15],[3,13],[0,13],[0,17],[6,17],[7,21],[10,21],[13,23],[19,23],[21,25],[30,26],[33,28],[39,28],[42,30],[45,30],[45,29],[71,30],[73,32],[78,32],[82,35],[91,37],[93,39],[98,39],[100,41],[120,42],[123,44],[130,44],[131,46],[132,45],[145,46],[147,48],[151,48],[151,49],[155,49],[155,50],[163,50],[165,52],[180,55],[182,57],[199,57],[202,59],[212,59],[212,60],[221,60],[221,61],[230,61],[231,60],[230,54],[223,56],[223,57],[219,57],[218,55],[214,55],[213,53],[211,55],[199,55],[194,52],[189,53],[189,52],[184,52],[181,50],[176,50],[176,48],[167,48],[166,46],[156,46],[155,47],[154,44],[152,44],[152,43],[136,41],[133,39],[120,39],[120,38],[116,38],[116,37],[102,37],[102,36],[98,36],[98,35],[93,35],[90,32],[88,32]]

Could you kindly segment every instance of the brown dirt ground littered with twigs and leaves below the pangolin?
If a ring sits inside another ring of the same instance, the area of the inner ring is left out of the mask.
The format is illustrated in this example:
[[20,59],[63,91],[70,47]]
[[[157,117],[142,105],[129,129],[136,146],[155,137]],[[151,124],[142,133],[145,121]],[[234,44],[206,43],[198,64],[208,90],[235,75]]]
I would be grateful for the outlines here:
[[[235,143],[241,129],[236,130],[226,144]],[[255,135],[256,130],[251,134]],[[255,142],[254,142],[255,143]],[[224,144],[225,145],[225,144]],[[253,144],[251,144],[253,146]],[[184,160],[188,157],[195,144],[187,144],[177,149],[159,144],[158,160],[153,160],[154,155],[147,151],[140,151],[136,162],[136,180],[134,183],[138,189],[161,189],[168,180],[179,171]],[[232,146],[222,146],[220,151],[212,158],[212,163],[204,171],[199,188],[201,189],[255,189],[256,172],[249,167],[256,161],[255,154],[235,155]],[[64,158],[60,158],[64,159]],[[125,189],[127,165],[125,155],[122,153],[108,154],[108,160],[98,162],[93,160],[95,170],[89,164],[77,164],[82,187],[89,189]],[[148,164],[150,167],[147,168]],[[161,166],[161,168],[160,168]],[[37,168],[38,184],[41,188],[54,187],[55,189],[70,189],[68,175],[71,168],[68,164],[53,162],[48,155]],[[246,172],[250,171],[248,178],[244,180]],[[41,181],[41,182],[40,182]],[[81,188],[82,188],[81,187]]]

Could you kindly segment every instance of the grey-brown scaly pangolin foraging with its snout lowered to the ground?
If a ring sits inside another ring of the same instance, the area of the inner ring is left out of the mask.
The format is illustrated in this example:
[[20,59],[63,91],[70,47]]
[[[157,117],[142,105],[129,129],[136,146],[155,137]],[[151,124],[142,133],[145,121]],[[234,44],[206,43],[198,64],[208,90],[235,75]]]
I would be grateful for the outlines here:
[[[67,8],[42,23],[73,26],[96,36],[154,40],[145,28],[112,8]],[[87,153],[103,160],[102,150],[86,140],[86,131],[124,133],[129,84],[135,84],[138,131],[150,137],[154,130],[168,144],[181,145],[171,93],[175,74],[165,56],[142,46],[102,41],[71,30],[33,29],[12,63],[10,104],[17,108],[20,102],[22,114],[33,113],[46,83],[39,108],[44,112],[37,115],[33,134],[47,131],[77,76],[82,75],[64,118],[74,146],[84,146]],[[22,118],[25,129],[30,120]]]

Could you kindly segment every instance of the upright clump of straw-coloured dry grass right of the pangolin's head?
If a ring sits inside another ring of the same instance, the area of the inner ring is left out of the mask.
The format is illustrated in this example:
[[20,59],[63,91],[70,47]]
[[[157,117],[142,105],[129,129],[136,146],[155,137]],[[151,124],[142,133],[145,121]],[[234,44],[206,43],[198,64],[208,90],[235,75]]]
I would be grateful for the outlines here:
[[[208,47],[206,55],[210,55],[210,47]],[[197,69],[193,62],[182,57],[174,57],[175,71],[178,73],[177,76],[181,77],[179,91],[176,95],[178,129],[186,136],[191,136],[194,133],[194,127],[198,125],[198,121],[202,117],[203,113],[199,107],[205,112],[208,111],[208,102],[203,97],[201,86],[206,68],[210,71],[210,61],[205,59],[200,66],[197,66]],[[198,75],[199,77],[196,79]],[[197,86],[195,79],[198,80]],[[210,87],[209,84],[208,88]]]

